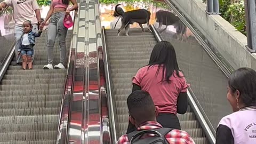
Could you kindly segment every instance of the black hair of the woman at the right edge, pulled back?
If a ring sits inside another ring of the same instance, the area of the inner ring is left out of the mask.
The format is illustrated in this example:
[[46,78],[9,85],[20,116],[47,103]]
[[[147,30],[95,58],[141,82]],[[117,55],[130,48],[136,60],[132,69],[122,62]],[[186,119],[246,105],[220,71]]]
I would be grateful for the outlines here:
[[245,107],[256,106],[256,71],[251,68],[239,68],[228,78],[231,92],[238,90]]

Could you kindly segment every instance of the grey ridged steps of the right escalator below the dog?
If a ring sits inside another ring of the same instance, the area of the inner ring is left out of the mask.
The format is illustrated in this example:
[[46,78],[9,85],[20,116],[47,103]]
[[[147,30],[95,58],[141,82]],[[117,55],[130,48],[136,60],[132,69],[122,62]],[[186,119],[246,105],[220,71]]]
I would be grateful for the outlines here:
[[[130,29],[130,36],[117,36],[117,29],[106,29],[106,50],[109,61],[110,86],[116,111],[116,136],[126,133],[128,109],[126,99],[132,91],[132,77],[137,70],[148,64],[151,50],[157,43],[153,33],[142,33],[141,29]],[[121,33],[122,34],[122,33]],[[180,41],[174,41],[178,45]],[[187,131],[195,143],[205,144],[208,140],[196,119],[194,111],[188,107],[184,115],[178,115],[181,129]]]

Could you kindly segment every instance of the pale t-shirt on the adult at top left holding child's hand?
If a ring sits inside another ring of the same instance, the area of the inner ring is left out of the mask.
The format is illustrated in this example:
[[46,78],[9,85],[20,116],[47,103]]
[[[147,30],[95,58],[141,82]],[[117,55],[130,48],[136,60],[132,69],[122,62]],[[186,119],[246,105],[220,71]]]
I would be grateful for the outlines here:
[[15,25],[22,25],[25,20],[37,23],[34,11],[39,9],[36,0],[5,0],[7,5],[13,7]]

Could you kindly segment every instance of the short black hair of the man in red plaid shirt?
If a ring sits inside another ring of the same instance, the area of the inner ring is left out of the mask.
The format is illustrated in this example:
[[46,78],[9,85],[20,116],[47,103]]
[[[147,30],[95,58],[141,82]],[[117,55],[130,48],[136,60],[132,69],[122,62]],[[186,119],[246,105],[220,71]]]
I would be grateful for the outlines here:
[[129,114],[137,122],[153,121],[155,118],[155,105],[146,91],[137,90],[127,98]]

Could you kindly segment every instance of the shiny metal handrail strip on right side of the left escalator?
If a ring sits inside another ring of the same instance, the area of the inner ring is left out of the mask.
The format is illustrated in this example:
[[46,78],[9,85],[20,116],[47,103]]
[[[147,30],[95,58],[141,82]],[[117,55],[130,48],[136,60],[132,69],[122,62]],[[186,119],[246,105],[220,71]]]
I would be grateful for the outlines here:
[[73,36],[70,41],[70,49],[68,55],[67,69],[66,69],[66,79],[64,83],[62,101],[61,101],[61,109],[58,123],[58,133],[56,144],[65,144],[67,143],[67,135],[68,135],[68,122],[70,117],[70,105],[71,105],[71,95],[73,92],[73,84],[74,84],[74,69],[75,69],[75,55],[76,55],[76,37],[78,31],[78,15],[77,10],[75,10],[74,14],[74,26],[73,26]]

